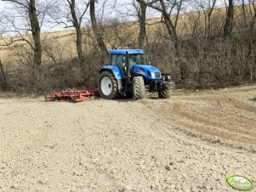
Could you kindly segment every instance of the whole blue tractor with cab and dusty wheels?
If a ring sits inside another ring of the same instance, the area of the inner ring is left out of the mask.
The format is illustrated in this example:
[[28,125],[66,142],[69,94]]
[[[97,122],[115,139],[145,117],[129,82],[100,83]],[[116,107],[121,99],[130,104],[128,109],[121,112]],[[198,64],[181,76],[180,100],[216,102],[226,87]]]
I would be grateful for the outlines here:
[[141,49],[117,49],[109,51],[111,64],[100,69],[98,88],[103,99],[117,99],[131,95],[143,99],[145,91],[158,92],[160,99],[168,99],[175,83],[151,65],[143,65]]

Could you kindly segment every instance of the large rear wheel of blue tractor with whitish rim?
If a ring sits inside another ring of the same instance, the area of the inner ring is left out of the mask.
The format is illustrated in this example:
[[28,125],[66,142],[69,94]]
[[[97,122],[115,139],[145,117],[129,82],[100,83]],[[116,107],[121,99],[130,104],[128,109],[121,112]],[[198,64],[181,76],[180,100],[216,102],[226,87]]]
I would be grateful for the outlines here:
[[117,99],[119,96],[117,79],[111,71],[103,71],[98,78],[100,97],[103,99]]

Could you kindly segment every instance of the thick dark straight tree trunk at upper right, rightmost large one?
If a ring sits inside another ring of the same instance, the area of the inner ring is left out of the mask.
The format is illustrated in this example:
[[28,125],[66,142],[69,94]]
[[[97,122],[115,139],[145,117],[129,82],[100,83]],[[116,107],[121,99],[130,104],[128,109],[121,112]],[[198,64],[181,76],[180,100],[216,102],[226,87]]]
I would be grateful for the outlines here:
[[230,37],[233,27],[233,18],[234,18],[234,2],[229,0],[229,7],[226,14],[225,26],[224,26],[224,37]]

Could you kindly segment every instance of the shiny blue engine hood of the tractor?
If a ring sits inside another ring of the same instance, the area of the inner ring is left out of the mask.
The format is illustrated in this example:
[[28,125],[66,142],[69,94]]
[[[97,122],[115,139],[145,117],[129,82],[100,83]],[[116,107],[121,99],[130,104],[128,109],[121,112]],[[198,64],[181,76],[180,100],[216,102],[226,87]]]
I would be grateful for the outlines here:
[[134,65],[134,74],[140,74],[147,79],[161,79],[161,71],[151,65]]

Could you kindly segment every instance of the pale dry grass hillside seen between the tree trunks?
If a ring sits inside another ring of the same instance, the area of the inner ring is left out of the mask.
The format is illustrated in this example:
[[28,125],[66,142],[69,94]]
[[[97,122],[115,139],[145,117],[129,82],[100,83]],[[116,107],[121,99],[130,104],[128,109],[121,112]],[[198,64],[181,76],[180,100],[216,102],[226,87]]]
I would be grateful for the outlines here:
[[[213,12],[213,22],[220,20],[221,17],[225,16],[224,9],[216,9]],[[175,15],[172,16],[172,20],[175,19]],[[218,22],[219,23],[219,22]],[[155,18],[147,20],[147,38],[149,42],[157,41],[157,36],[164,36],[165,34],[160,34],[160,31],[165,31],[165,26],[161,23],[161,18]],[[113,31],[113,26],[115,32]],[[188,37],[191,35],[193,29],[197,27],[197,30],[204,30],[204,15],[202,12],[192,12],[188,14],[179,15],[178,24],[178,34],[179,37]],[[83,35],[83,48],[85,52],[89,52],[90,49],[94,47],[94,36],[90,28],[84,28]],[[137,36],[139,33],[139,25],[137,22],[128,22],[122,24],[111,24],[105,26],[105,42],[107,48],[123,48],[125,46],[120,43],[120,40],[124,42],[137,43]],[[118,34],[118,37],[117,37]],[[20,37],[14,37],[14,41]],[[26,39],[31,41],[31,37],[26,36]],[[5,39],[4,41],[9,42],[10,39]],[[76,31],[75,30],[65,30],[65,31],[55,31],[42,34],[43,48],[47,48],[54,57],[57,59],[67,59],[77,56],[76,53]],[[3,40],[0,40],[0,44],[4,44]],[[121,45],[120,45],[121,44]],[[26,42],[15,42],[10,46],[0,47],[0,59],[3,63],[16,63],[20,58],[15,58],[17,48],[29,47]],[[48,60],[48,56],[44,55],[44,61]]]

